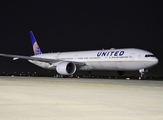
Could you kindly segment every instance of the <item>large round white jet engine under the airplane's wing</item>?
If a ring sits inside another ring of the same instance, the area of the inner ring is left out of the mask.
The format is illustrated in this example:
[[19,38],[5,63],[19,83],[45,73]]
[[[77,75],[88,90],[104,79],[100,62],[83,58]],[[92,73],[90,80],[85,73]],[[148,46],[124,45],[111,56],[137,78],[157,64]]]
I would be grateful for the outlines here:
[[71,62],[61,62],[56,66],[56,71],[61,75],[72,75],[76,71],[76,65]]

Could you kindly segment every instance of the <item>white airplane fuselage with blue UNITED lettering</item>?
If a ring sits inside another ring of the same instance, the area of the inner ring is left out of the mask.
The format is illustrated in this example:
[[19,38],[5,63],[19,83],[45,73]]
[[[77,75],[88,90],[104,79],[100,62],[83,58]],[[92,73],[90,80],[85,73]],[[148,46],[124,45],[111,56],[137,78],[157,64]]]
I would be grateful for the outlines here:
[[[151,52],[135,48],[46,53],[32,57],[84,63],[85,65],[83,66],[77,66],[78,70],[130,71],[146,69],[158,63],[158,59]],[[56,69],[58,64],[29,61],[42,68],[51,70]]]

